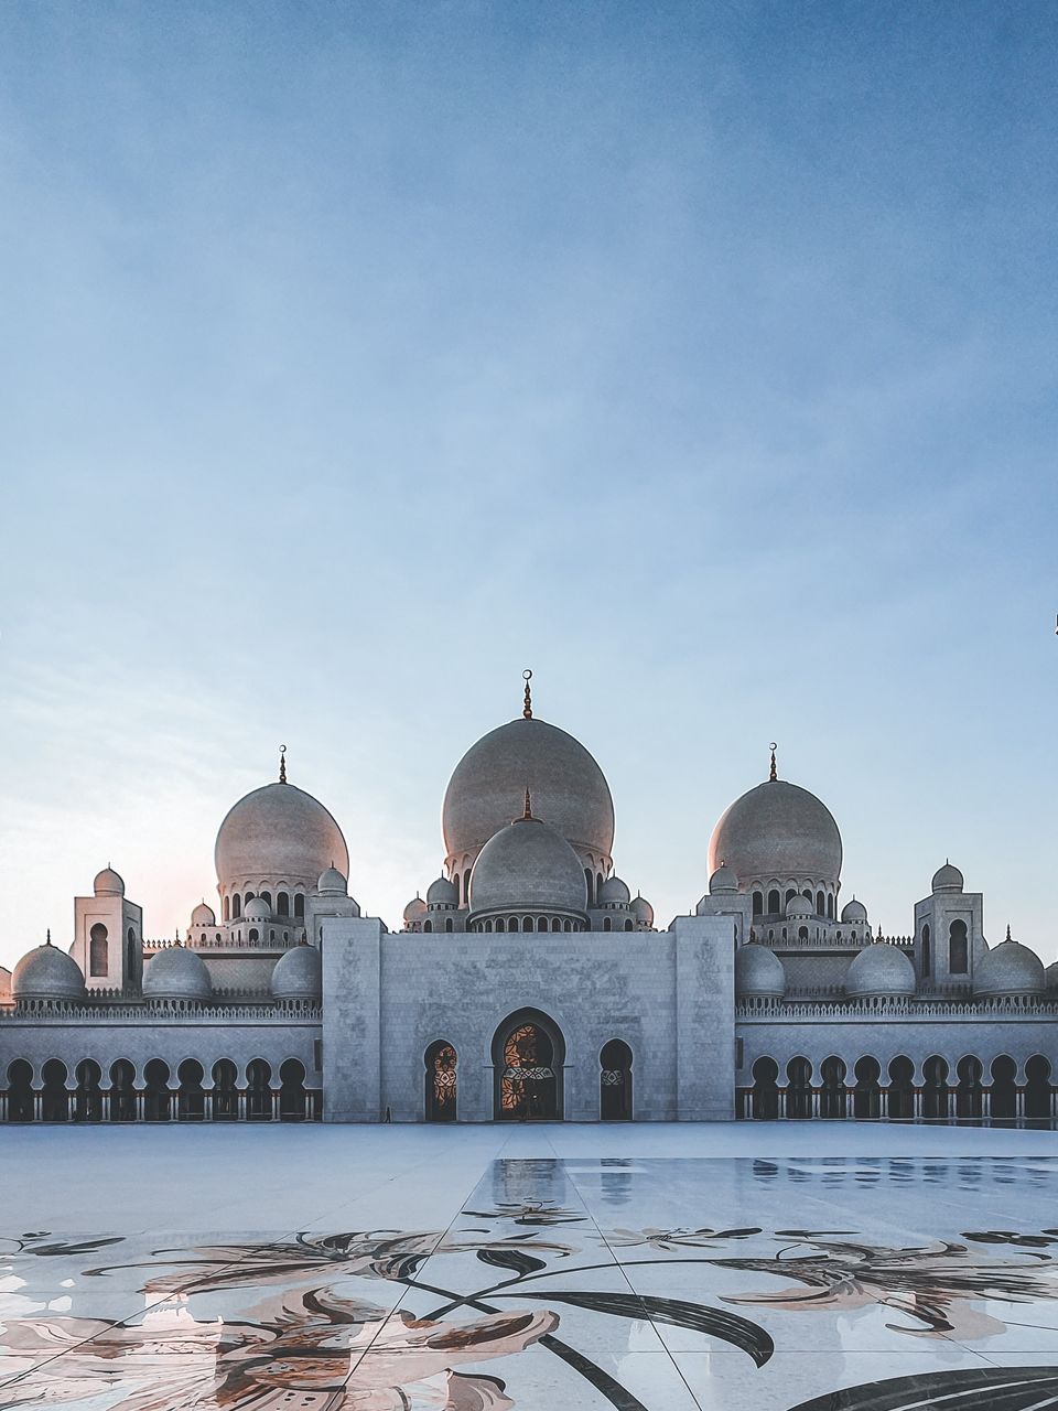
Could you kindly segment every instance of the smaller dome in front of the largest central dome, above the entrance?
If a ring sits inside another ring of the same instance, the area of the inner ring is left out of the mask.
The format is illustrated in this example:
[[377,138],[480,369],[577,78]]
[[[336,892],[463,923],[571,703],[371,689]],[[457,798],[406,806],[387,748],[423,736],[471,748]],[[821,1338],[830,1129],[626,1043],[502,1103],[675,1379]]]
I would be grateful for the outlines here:
[[563,912],[587,920],[588,885],[580,858],[557,828],[515,818],[478,854],[470,873],[470,913]]

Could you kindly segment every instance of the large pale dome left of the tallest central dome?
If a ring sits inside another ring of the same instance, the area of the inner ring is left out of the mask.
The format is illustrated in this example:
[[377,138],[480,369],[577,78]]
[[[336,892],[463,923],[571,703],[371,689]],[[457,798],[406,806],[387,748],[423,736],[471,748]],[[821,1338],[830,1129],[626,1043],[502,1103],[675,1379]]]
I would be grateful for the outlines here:
[[310,889],[330,866],[348,876],[341,828],[317,799],[288,783],[240,799],[220,824],[213,855],[221,892],[248,879]]

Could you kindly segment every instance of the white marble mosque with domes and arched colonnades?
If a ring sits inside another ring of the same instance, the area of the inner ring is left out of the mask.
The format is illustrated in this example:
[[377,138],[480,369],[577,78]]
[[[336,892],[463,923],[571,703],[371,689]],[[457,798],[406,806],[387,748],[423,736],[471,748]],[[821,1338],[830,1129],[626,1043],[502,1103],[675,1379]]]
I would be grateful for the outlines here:
[[528,677],[456,766],[442,873],[396,931],[285,755],[220,824],[217,904],[182,938],[147,940],[107,865],[69,948],[0,971],[0,1120],[1055,1125],[1058,964],[989,944],[956,866],[883,938],[773,748],[659,928],[614,869],[602,770]]

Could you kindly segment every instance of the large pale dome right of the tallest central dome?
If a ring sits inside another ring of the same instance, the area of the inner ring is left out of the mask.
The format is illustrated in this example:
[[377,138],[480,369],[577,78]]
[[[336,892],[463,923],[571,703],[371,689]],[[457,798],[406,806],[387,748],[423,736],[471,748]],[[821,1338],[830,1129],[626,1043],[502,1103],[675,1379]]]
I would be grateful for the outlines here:
[[743,890],[752,882],[794,878],[838,885],[841,834],[821,799],[769,779],[736,799],[710,838],[710,871],[725,862]]

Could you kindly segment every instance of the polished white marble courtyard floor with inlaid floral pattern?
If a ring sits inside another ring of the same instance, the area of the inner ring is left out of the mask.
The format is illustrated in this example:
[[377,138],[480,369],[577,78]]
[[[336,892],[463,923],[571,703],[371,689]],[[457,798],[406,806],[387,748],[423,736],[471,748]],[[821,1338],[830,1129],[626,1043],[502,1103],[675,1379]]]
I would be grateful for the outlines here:
[[1058,1136],[0,1133],[0,1408],[1058,1408]]

